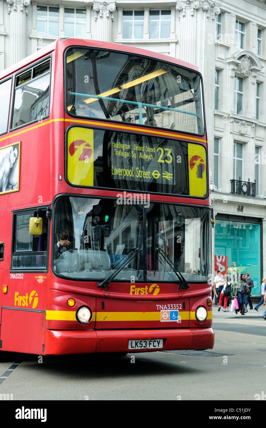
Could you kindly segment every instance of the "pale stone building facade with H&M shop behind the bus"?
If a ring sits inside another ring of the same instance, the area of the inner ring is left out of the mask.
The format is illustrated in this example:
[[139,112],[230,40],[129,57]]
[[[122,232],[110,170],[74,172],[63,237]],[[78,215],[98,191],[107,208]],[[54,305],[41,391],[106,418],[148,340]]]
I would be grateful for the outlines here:
[[[117,42],[175,56],[203,74],[213,270],[266,276],[264,0],[0,0],[0,69],[57,37]],[[215,232],[214,232],[215,231]]]

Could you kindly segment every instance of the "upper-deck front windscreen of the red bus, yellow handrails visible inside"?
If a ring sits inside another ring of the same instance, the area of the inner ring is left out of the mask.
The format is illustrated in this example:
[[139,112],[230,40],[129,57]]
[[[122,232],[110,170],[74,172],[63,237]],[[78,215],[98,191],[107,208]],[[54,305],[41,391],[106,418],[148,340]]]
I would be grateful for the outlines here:
[[200,75],[143,56],[87,48],[66,53],[66,111],[204,134]]

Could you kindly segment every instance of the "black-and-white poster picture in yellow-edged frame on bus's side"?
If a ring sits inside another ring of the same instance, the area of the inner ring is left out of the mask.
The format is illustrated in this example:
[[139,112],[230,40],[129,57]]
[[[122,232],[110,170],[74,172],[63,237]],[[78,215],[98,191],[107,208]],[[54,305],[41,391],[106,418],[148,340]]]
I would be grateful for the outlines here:
[[0,149],[0,193],[18,189],[18,154],[19,144]]

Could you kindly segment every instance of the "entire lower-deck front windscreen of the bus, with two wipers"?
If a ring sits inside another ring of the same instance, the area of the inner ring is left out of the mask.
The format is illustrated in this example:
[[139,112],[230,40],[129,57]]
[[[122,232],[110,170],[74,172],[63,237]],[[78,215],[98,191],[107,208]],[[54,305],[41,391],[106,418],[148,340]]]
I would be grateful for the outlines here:
[[[162,250],[187,281],[206,281],[210,210],[138,196],[142,198],[58,197],[54,205],[55,273],[102,281],[129,258],[116,281],[176,282],[174,270],[160,257]],[[142,251],[130,259],[136,248]]]

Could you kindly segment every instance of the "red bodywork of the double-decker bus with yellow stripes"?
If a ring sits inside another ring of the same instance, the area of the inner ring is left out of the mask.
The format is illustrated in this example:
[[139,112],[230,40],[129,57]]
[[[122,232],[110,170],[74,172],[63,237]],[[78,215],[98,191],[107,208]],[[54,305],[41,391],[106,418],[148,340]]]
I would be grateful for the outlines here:
[[[2,81],[13,75],[12,94],[14,93],[14,75],[27,69],[40,59],[51,56],[51,100],[48,119],[23,126],[0,136],[0,147],[21,141],[20,190],[0,195],[0,241],[4,242],[4,259],[0,262],[0,283],[8,285],[7,293],[0,293],[1,351],[13,351],[39,355],[78,354],[93,352],[127,352],[129,340],[163,339],[163,348],[206,349],[214,345],[212,330],[212,307],[207,306],[211,296],[211,285],[191,284],[177,293],[177,284],[159,284],[159,294],[153,294],[151,283],[135,284],[130,294],[131,283],[112,282],[110,294],[105,296],[97,282],[84,282],[62,279],[51,271],[52,233],[49,236],[49,262],[47,273],[10,273],[12,252],[12,212],[23,208],[51,205],[58,194],[93,195],[116,197],[117,191],[98,188],[74,188],[64,178],[64,132],[69,125],[82,124],[106,128],[107,124],[116,130],[131,128],[132,124],[107,122],[93,119],[74,119],[64,111],[64,51],[69,46],[90,46],[152,56],[155,59],[169,61],[168,56],[150,53],[114,43],[88,41],[83,39],[57,40],[38,53],[30,55],[18,64],[0,74]],[[173,63],[199,71],[197,67],[171,58]],[[10,108],[11,110],[11,108]],[[9,126],[10,129],[9,112]],[[134,126],[134,132],[151,133],[153,136],[200,142],[207,147],[207,136],[197,137],[176,131]],[[60,175],[62,180],[60,180]],[[209,207],[210,196],[206,199],[162,196],[154,194],[154,201],[195,204]],[[51,205],[53,209],[53,205]],[[146,287],[146,289],[145,289]],[[2,287],[1,287],[2,288]],[[140,294],[140,288],[145,289]],[[23,306],[23,299],[36,291],[37,305],[32,308],[33,300]],[[74,298],[76,305],[69,308],[67,301]],[[19,302],[21,304],[19,305]],[[176,328],[176,322],[162,323],[160,309],[168,309],[172,304],[182,305],[182,325]],[[89,324],[80,324],[75,313],[80,306],[89,306],[93,317]],[[207,319],[199,322],[195,310],[204,306]],[[104,308],[104,309],[103,309]],[[156,349],[155,349],[156,350]],[[131,352],[137,352],[134,350]],[[139,350],[143,351],[143,350]],[[152,350],[147,350],[152,351]]]

